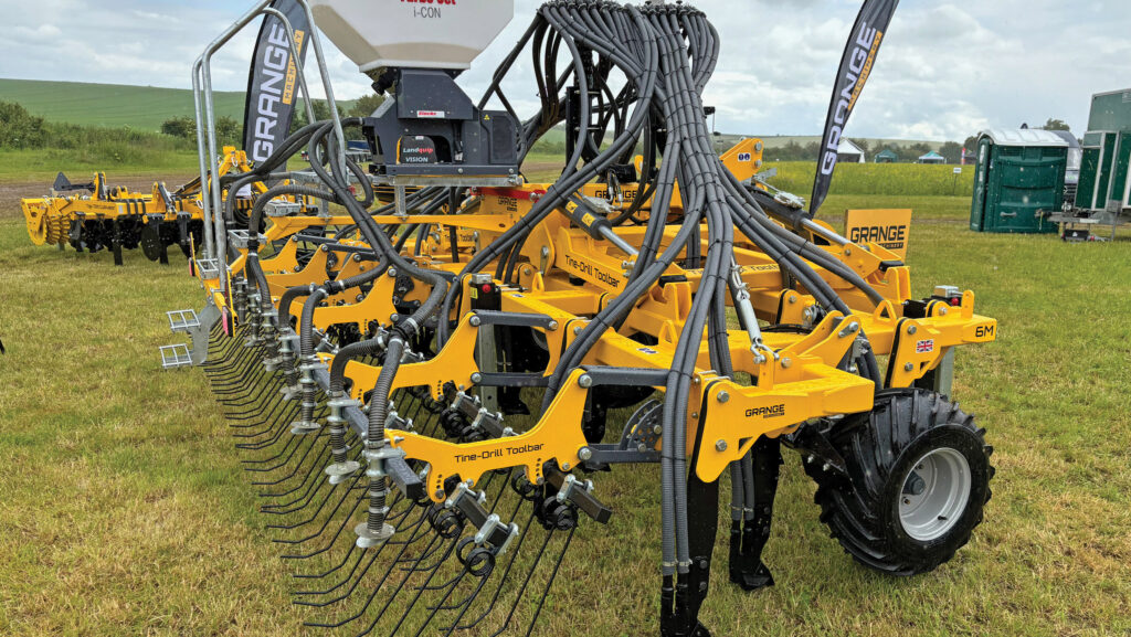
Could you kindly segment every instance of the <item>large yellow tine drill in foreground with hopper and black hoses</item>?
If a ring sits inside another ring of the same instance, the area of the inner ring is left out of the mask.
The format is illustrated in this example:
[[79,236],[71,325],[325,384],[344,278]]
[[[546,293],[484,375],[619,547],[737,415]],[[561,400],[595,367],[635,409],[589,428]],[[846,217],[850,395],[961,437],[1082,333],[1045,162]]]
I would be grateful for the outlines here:
[[[201,175],[205,309],[171,321],[195,341],[172,362],[205,365],[316,625],[529,634],[578,528],[614,515],[602,485],[632,477],[659,493],[659,630],[709,635],[722,476],[729,579],[768,586],[783,445],[858,562],[921,574],[969,540],[993,468],[950,397],[953,356],[996,322],[973,292],[913,296],[896,255],[759,188],[757,140],[713,150],[702,12],[550,2],[473,102],[452,78],[511,2],[430,8],[426,28],[391,0],[311,5],[389,98],[231,182]],[[542,104],[527,119],[502,89],[523,54]],[[533,183],[526,154],[560,123],[564,169]],[[352,129],[368,166],[345,153]],[[214,156],[214,130],[199,140]],[[287,171],[303,148],[310,170]],[[253,183],[274,186],[236,219]]]

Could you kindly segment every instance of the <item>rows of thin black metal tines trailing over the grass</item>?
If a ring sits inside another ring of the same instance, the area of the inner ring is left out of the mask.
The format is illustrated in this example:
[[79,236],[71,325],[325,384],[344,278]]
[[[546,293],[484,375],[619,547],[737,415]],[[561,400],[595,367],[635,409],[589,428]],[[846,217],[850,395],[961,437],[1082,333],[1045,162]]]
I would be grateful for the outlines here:
[[[474,490],[448,484],[443,503],[391,489],[383,511],[391,536],[362,541],[374,477],[364,430],[335,433],[326,424],[340,411],[323,387],[311,386],[294,354],[294,330],[273,329],[256,296],[242,282],[233,286],[242,320],[231,334],[213,329],[204,369],[259,490],[266,528],[295,567],[293,602],[320,613],[308,626],[355,635],[530,635],[578,526],[573,503],[550,484],[532,484],[523,470],[491,473]],[[466,404],[457,408],[466,395],[451,405],[425,388],[391,398],[390,428],[458,441],[482,436],[469,427]],[[408,466],[421,476],[428,471],[418,460]]]

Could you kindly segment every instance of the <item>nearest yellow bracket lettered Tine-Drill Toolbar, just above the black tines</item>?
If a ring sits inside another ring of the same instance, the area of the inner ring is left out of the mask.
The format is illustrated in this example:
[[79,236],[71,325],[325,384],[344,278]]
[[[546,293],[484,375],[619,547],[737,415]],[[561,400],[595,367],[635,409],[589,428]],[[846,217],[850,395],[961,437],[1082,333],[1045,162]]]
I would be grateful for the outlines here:
[[433,502],[447,498],[443,481],[452,475],[478,482],[490,471],[525,467],[527,480],[537,484],[545,463],[556,459],[562,466],[573,466],[580,462],[577,454],[587,445],[581,418],[588,390],[579,385],[584,375],[585,370],[573,370],[538,423],[520,436],[466,445],[398,430],[388,430],[385,437],[406,458],[429,464],[428,493]]

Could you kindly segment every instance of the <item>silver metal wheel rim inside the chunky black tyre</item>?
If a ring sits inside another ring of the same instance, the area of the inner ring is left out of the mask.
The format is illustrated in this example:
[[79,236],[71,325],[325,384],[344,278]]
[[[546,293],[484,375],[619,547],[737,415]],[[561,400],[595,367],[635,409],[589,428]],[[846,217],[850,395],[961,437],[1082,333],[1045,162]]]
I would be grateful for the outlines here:
[[899,523],[921,542],[946,535],[958,524],[970,498],[970,465],[949,447],[922,456],[904,479]]

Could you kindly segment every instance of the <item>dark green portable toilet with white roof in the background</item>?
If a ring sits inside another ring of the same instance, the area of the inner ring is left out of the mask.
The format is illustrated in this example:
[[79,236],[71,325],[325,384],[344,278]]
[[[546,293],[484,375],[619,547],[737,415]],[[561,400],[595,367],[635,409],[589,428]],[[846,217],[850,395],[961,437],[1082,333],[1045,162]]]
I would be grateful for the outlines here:
[[978,135],[970,230],[1056,232],[1044,215],[1060,212],[1069,145],[1047,130],[985,130]]

